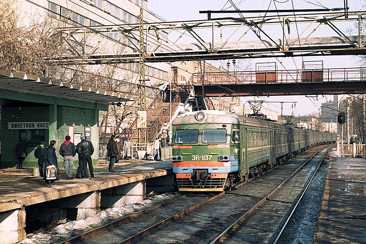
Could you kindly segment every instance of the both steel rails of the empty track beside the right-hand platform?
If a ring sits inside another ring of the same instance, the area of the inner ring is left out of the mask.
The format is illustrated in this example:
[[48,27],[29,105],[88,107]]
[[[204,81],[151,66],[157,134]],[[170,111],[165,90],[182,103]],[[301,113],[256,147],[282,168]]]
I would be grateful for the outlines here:
[[[250,218],[251,216],[253,216],[254,214],[257,213],[257,211],[260,209],[261,206],[263,206],[266,202],[268,202],[271,198],[273,198],[273,196],[279,191],[279,189],[281,189],[290,179],[292,179],[301,169],[304,168],[305,165],[307,165],[316,155],[318,154],[322,154],[322,157],[317,165],[317,168],[315,169],[315,171],[313,172],[311,179],[308,181],[306,187],[303,189],[302,194],[300,195],[300,198],[297,200],[296,204],[294,205],[294,207],[292,208],[292,211],[290,213],[290,215],[287,217],[286,221],[284,222],[284,224],[281,227],[280,232],[278,233],[274,244],[279,243],[279,240],[281,239],[282,234],[284,233],[284,230],[286,229],[288,223],[290,222],[290,219],[292,218],[293,214],[295,213],[297,207],[299,206],[300,201],[302,200],[303,196],[305,195],[307,189],[309,188],[312,180],[315,177],[315,174],[318,172],[324,157],[326,155],[326,153],[328,152],[330,147],[327,147],[325,150],[320,149],[319,151],[317,151],[316,153],[314,153],[309,159],[306,160],[306,162],[304,164],[302,164],[297,170],[295,170],[294,173],[292,173],[290,176],[288,176],[285,180],[283,180],[275,189],[273,189],[271,192],[269,192],[264,198],[262,198],[261,200],[259,200],[256,204],[254,204],[253,207],[251,207],[249,210],[247,210],[242,216],[240,216],[239,218],[237,218],[227,229],[225,229],[222,233],[220,233],[215,239],[213,239],[210,244],[218,244],[218,243],[226,243],[226,239],[230,236],[230,235],[235,235],[235,231],[240,228],[240,225],[242,225],[243,222],[245,222],[248,218]],[[235,243],[235,241],[233,241]],[[230,243],[230,241],[229,241]]]

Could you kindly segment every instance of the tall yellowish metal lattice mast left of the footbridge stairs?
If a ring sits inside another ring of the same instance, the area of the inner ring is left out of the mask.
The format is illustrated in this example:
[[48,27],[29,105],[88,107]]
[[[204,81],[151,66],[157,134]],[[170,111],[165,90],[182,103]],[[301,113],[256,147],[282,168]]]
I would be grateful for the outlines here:
[[[143,7],[140,7],[139,15],[139,111],[146,111],[146,93],[145,93],[145,49],[143,38]],[[139,129],[139,143],[147,142],[146,128]]]

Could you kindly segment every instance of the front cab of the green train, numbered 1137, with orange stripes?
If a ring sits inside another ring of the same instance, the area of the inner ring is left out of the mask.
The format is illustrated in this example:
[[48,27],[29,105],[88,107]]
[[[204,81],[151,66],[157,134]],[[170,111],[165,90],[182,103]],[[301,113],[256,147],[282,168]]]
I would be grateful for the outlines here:
[[230,173],[242,168],[240,125],[207,120],[173,122],[172,161],[179,191],[223,191]]

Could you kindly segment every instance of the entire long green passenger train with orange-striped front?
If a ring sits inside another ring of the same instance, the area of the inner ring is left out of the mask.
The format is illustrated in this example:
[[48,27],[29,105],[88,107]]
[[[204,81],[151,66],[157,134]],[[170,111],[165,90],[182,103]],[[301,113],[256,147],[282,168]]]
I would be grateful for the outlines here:
[[308,131],[201,110],[179,115],[173,127],[173,172],[180,191],[223,191],[337,134]]

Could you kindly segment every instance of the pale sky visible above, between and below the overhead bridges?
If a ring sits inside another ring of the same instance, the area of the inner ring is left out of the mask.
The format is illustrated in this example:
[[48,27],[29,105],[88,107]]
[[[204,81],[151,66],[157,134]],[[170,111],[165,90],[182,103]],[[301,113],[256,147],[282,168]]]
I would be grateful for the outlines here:
[[[285,3],[279,3],[276,1],[277,9],[292,9],[291,0],[278,0],[285,1]],[[275,10],[275,4],[273,0],[234,0],[237,3],[237,6],[240,10],[261,10],[261,9],[273,9]],[[310,3],[309,3],[310,2]],[[349,11],[358,11],[362,8],[361,0],[348,0],[348,7],[350,7]],[[269,6],[270,4],[270,6]],[[293,0],[294,8],[321,8],[321,5],[324,5],[326,8],[336,8],[343,7],[343,0]],[[316,4],[316,5],[315,5]],[[224,7],[225,6],[225,7]],[[200,10],[221,10],[230,7],[231,5],[227,0],[149,0],[148,8],[149,10],[155,12],[160,15],[167,21],[175,21],[175,20],[197,20],[197,19],[206,19],[206,14],[199,14]],[[228,8],[228,10],[233,10],[233,8]],[[264,14],[260,14],[259,16],[263,16]],[[232,14],[231,16],[238,17],[237,14]],[[254,16],[251,14],[250,16]],[[213,16],[216,18],[219,16]],[[347,23],[347,22],[345,22]],[[341,24],[341,29],[346,30],[348,24]],[[337,24],[337,26],[339,26]],[[300,28],[299,28],[300,29]],[[336,36],[335,33],[329,30],[326,30],[329,33],[323,33],[325,35],[333,35]],[[317,35],[321,35],[321,31],[318,33],[314,33],[314,37]],[[296,36],[297,37],[297,36]],[[209,38],[209,37],[208,37]],[[223,37],[224,38],[224,37]],[[210,40],[210,38],[209,38]],[[252,39],[253,40],[253,39]],[[188,42],[189,40],[187,40]],[[251,67],[255,70],[255,63],[259,62],[276,62],[279,70],[294,70],[296,66],[301,68],[302,61],[313,61],[313,60],[322,60],[324,62],[324,68],[348,68],[348,67],[358,67],[357,57],[355,56],[328,56],[328,57],[296,57],[292,59],[288,58],[280,58],[279,59],[284,68],[279,64],[279,62],[275,58],[270,59],[254,59],[251,61]],[[295,65],[296,64],[296,65]],[[327,101],[333,100],[333,95],[327,95]],[[244,97],[242,101],[253,100],[253,97]],[[260,97],[257,100],[265,100],[265,101],[296,101],[296,110],[294,113],[296,115],[306,115],[312,112],[318,112],[321,103],[325,102],[325,96],[319,95],[317,98],[308,98],[305,96],[273,96],[273,97]],[[277,111],[279,114],[281,112],[280,104],[263,104],[264,107]],[[291,114],[291,104],[284,104],[284,114]]]

